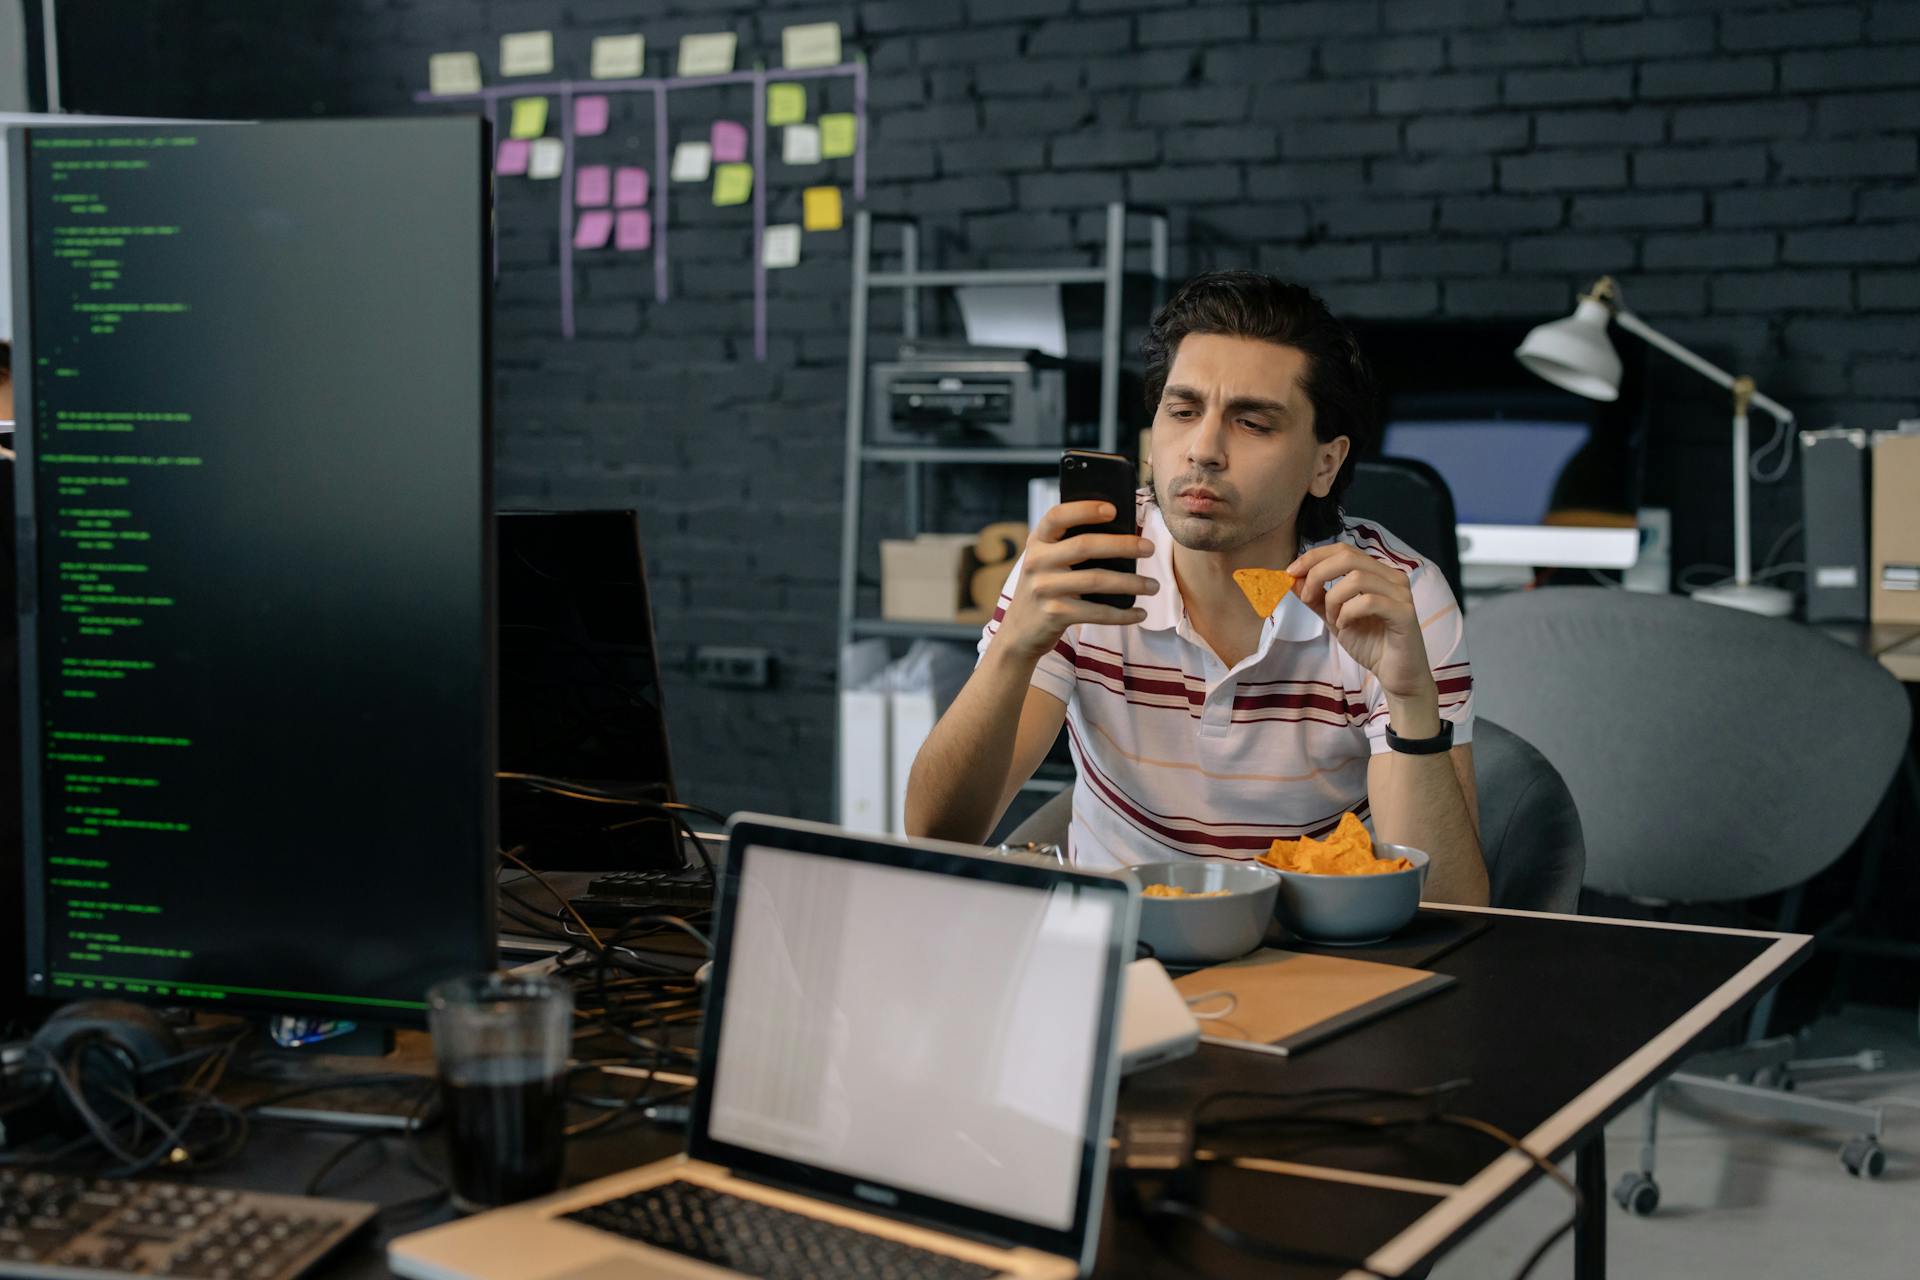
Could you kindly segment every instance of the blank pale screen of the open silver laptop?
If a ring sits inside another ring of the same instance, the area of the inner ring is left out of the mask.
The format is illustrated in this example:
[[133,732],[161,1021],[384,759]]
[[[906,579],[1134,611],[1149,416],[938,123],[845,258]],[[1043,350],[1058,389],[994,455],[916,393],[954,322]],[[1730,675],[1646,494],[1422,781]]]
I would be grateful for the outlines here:
[[737,829],[735,850],[707,1136],[845,1174],[881,1207],[906,1192],[1071,1232],[1106,1144],[1092,1103],[1125,890],[977,856],[920,854],[960,873],[824,858]]

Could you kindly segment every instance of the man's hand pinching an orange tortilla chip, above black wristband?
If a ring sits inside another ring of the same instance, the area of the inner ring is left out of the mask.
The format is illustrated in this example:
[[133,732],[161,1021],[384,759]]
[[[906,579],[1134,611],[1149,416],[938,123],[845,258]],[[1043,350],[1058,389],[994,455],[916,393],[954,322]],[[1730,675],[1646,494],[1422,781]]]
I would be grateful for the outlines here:
[[1327,622],[1340,647],[1373,672],[1392,699],[1423,699],[1434,691],[1427,641],[1413,608],[1413,583],[1392,564],[1359,547],[1329,543],[1286,566],[1294,593]]

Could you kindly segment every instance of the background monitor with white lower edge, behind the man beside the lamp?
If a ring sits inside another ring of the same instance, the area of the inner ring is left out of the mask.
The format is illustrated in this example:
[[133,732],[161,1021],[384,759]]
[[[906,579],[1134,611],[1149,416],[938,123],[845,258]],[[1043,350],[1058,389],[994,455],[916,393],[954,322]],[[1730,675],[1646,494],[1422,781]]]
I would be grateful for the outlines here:
[[[1359,330],[1386,395],[1384,457],[1448,482],[1463,566],[1628,568],[1640,555],[1640,361],[1609,405],[1513,359],[1524,324]],[[1636,353],[1638,355],[1638,353]]]

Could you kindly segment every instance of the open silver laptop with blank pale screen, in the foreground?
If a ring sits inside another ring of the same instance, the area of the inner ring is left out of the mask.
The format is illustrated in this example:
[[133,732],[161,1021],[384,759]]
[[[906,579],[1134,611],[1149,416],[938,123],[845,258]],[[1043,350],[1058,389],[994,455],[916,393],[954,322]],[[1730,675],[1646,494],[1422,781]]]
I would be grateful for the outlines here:
[[1092,1267],[1131,877],[739,814],[716,910],[685,1153],[403,1236],[396,1274]]

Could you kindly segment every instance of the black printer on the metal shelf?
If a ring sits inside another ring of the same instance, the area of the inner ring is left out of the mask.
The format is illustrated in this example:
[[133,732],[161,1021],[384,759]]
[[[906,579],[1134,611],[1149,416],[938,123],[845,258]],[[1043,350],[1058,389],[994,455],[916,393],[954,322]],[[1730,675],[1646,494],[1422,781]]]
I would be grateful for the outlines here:
[[872,445],[1064,449],[1098,434],[1100,370],[1083,361],[916,340],[868,378]]

